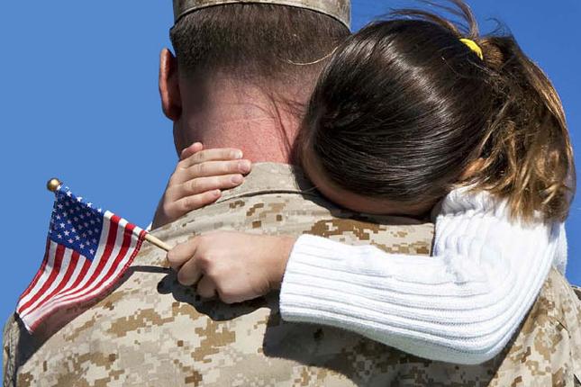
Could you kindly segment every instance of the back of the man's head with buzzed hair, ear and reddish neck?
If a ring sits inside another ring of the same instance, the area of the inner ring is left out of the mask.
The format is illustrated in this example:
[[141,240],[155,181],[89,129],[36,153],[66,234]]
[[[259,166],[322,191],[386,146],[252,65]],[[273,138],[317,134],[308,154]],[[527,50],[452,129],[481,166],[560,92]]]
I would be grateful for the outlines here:
[[348,34],[331,15],[280,4],[222,4],[179,17],[177,59],[162,52],[159,79],[177,150],[201,140],[286,161],[322,62]]

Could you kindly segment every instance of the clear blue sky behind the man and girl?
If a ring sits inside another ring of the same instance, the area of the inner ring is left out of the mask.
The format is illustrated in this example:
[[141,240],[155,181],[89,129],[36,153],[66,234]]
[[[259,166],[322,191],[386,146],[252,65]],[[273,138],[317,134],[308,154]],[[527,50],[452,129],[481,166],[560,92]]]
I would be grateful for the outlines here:
[[[0,320],[41,264],[53,197],[50,176],[146,226],[175,163],[159,108],[159,49],[169,44],[171,2],[4,1],[0,5]],[[410,2],[354,0],[359,29]],[[483,29],[498,18],[554,81],[581,151],[579,0],[472,0]],[[558,4],[558,5],[556,5]],[[568,278],[581,284],[581,201],[568,221]]]

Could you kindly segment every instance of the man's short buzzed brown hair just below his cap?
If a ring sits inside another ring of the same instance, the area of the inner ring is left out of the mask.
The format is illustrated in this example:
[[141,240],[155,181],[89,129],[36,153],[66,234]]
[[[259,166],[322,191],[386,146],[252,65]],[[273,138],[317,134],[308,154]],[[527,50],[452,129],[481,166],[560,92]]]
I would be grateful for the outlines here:
[[[349,29],[326,14],[277,4],[227,4],[186,14],[170,36],[185,74],[277,80],[318,75]],[[308,65],[305,65],[308,64]]]

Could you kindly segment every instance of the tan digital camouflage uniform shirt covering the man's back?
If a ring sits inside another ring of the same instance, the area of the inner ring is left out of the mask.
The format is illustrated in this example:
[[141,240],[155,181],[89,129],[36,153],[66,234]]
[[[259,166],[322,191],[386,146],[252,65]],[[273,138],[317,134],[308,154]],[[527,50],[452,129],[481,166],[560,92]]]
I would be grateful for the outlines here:
[[[156,235],[175,245],[213,229],[308,232],[429,254],[431,224],[342,211],[297,176],[295,182],[289,166],[257,165],[220,202]],[[235,306],[201,302],[150,246],[123,284],[80,312],[61,313],[78,317],[52,336],[55,329],[45,327],[38,338],[9,320],[5,386],[573,386],[581,370],[580,303],[555,270],[510,347],[477,366],[409,356],[340,329],[286,323],[277,294]]]

